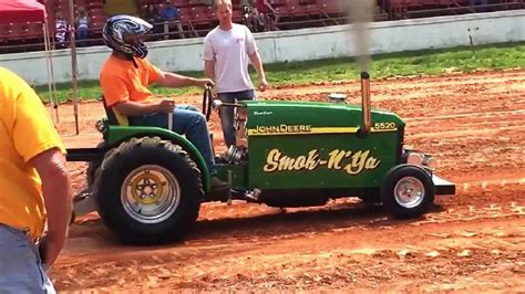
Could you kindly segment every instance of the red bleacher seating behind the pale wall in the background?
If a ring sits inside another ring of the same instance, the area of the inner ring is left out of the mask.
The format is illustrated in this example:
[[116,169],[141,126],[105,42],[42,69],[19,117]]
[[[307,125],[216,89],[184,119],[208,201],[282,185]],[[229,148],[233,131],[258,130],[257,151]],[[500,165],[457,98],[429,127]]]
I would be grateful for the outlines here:
[[[249,14],[243,13],[240,0],[234,0],[233,20],[248,25],[253,31],[262,31]],[[497,11],[525,8],[525,0],[486,0],[486,4],[473,3],[481,0],[377,0],[373,20],[399,20],[435,15]],[[56,12],[61,12],[71,24],[69,0],[42,0],[48,11],[50,43],[54,48]],[[83,45],[103,44],[102,28],[107,19],[104,0],[74,0],[75,15],[80,9],[87,12],[90,19],[89,39]],[[155,23],[150,40],[204,36],[218,23],[215,8],[209,0],[172,0],[178,10],[178,21]],[[300,28],[326,27],[349,22],[346,9],[338,0],[269,0],[277,11],[272,15],[271,30],[294,30]],[[147,6],[153,4],[159,11],[165,0],[136,0],[137,17],[143,17]],[[113,9],[114,10],[114,9]],[[178,27],[181,25],[181,27]],[[0,53],[35,51],[44,49],[42,23],[9,23],[0,25]],[[182,28],[182,32],[178,30]],[[268,30],[268,28],[266,29]]]

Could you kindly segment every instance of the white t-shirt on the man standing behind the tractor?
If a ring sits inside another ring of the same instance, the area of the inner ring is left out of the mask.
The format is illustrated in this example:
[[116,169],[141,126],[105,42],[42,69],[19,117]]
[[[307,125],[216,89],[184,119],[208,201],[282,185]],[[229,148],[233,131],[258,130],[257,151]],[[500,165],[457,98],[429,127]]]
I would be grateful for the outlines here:
[[254,88],[249,78],[248,54],[257,51],[254,35],[245,25],[233,23],[231,30],[218,27],[204,39],[204,60],[214,62],[217,93]]

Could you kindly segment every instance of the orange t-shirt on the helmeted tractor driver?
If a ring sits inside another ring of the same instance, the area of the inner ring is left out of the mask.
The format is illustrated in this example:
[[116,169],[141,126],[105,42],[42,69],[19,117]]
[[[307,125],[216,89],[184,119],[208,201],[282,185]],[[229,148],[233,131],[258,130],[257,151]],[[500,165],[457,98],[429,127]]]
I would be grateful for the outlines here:
[[119,102],[142,102],[150,99],[153,94],[147,88],[158,78],[161,70],[150,63],[146,59],[133,61],[107,57],[100,74],[100,83],[106,106],[113,106]]

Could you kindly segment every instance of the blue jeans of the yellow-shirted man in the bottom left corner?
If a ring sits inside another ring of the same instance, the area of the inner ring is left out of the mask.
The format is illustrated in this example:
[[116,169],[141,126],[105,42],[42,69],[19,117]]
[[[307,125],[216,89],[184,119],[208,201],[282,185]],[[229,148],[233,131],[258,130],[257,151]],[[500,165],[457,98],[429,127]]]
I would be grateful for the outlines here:
[[56,293],[25,232],[0,224],[0,293]]

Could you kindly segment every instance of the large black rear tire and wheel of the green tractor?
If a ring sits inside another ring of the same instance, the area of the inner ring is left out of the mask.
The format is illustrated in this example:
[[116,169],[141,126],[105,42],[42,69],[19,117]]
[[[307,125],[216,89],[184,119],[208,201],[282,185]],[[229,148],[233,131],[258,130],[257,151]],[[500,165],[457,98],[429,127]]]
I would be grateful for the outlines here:
[[184,238],[204,198],[197,165],[181,146],[157,137],[121,144],[104,158],[96,186],[104,223],[138,245]]

